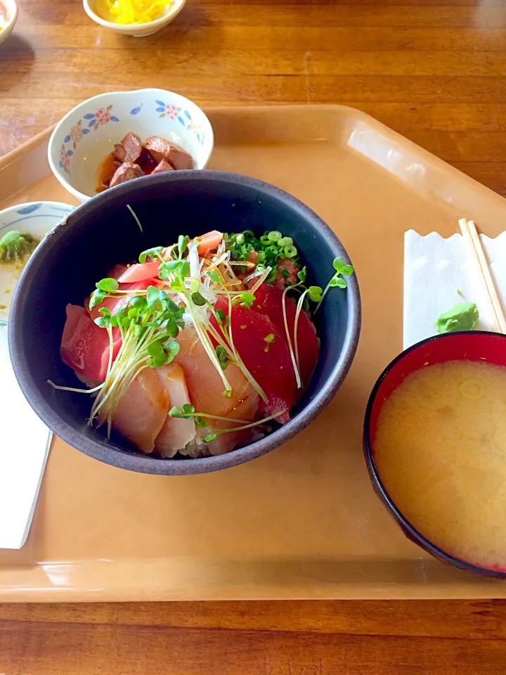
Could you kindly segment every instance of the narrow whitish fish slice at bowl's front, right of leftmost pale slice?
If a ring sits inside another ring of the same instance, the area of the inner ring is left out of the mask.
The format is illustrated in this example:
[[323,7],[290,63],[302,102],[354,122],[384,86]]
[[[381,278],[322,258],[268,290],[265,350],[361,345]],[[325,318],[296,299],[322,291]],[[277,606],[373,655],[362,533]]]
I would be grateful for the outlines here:
[[[169,394],[169,410],[173,406],[183,408],[190,403],[188,387],[179,364],[167,364],[156,369],[160,382]],[[182,450],[195,438],[195,421],[193,419],[182,420],[167,416],[162,430],[155,440],[155,450],[162,457],[174,457],[178,450]]]

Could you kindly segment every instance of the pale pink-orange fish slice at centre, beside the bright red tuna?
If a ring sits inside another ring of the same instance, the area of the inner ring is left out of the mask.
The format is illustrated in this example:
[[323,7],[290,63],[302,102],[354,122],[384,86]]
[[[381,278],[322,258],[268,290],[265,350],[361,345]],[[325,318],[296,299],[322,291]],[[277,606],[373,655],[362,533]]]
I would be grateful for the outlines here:
[[228,398],[223,394],[223,380],[197,338],[195,328],[188,326],[181,330],[177,341],[181,349],[174,361],[183,368],[190,401],[197,413],[226,416],[254,392],[238,366],[231,364],[224,373],[232,387],[232,396]]

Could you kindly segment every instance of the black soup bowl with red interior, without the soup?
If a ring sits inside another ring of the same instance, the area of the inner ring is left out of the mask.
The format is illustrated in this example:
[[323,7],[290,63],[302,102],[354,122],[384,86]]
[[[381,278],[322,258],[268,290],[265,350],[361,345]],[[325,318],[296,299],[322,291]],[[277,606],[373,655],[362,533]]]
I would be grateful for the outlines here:
[[[413,347],[405,349],[394,361],[384,369],[378,378],[369,397],[365,411],[363,428],[363,448],[372,487],[380,497],[389,514],[394,518],[408,539],[414,541],[434,555],[442,563],[454,565],[461,570],[482,574],[486,577],[506,579],[506,568],[482,567],[455,555],[446,553],[442,548],[429,541],[426,536],[418,532],[408,519],[397,508],[385,488],[380,472],[375,463],[375,437],[377,420],[385,401],[398,385],[410,373],[425,366],[445,363],[446,361],[486,361],[488,364],[506,366],[506,335],[486,333],[481,330],[469,330],[462,333],[446,333],[417,342]],[[409,449],[409,439],[406,439],[406,449]]]

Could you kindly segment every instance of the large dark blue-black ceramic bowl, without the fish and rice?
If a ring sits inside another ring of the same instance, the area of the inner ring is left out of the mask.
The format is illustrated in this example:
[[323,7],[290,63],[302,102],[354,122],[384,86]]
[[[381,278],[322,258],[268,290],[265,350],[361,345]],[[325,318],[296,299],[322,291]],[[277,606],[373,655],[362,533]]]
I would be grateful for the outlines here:
[[[143,226],[138,228],[130,205]],[[146,176],[112,188],[77,208],[39,245],[13,298],[9,345],[20,387],[39,417],[65,442],[107,464],[141,473],[187,475],[228,468],[266,454],[304,429],[342,384],[356,351],[361,302],[353,275],[347,290],[333,289],[317,315],[320,359],[292,420],[231,453],[198,459],[142,454],[124,437],[107,439],[90,428],[91,399],[53,390],[48,379],[81,386],[60,360],[65,305],[82,304],[95,282],[117,262],[136,259],[180,233],[279,229],[297,243],[311,283],[325,286],[332,259],[349,261],[330,228],[299,200],[247,176],[214,171]]]

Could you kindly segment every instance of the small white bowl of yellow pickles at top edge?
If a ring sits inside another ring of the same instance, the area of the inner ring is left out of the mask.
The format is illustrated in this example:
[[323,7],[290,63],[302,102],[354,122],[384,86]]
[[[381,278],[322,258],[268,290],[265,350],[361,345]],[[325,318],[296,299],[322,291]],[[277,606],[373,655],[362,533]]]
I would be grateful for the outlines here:
[[95,23],[122,35],[146,37],[171,23],[186,0],[83,0]]

